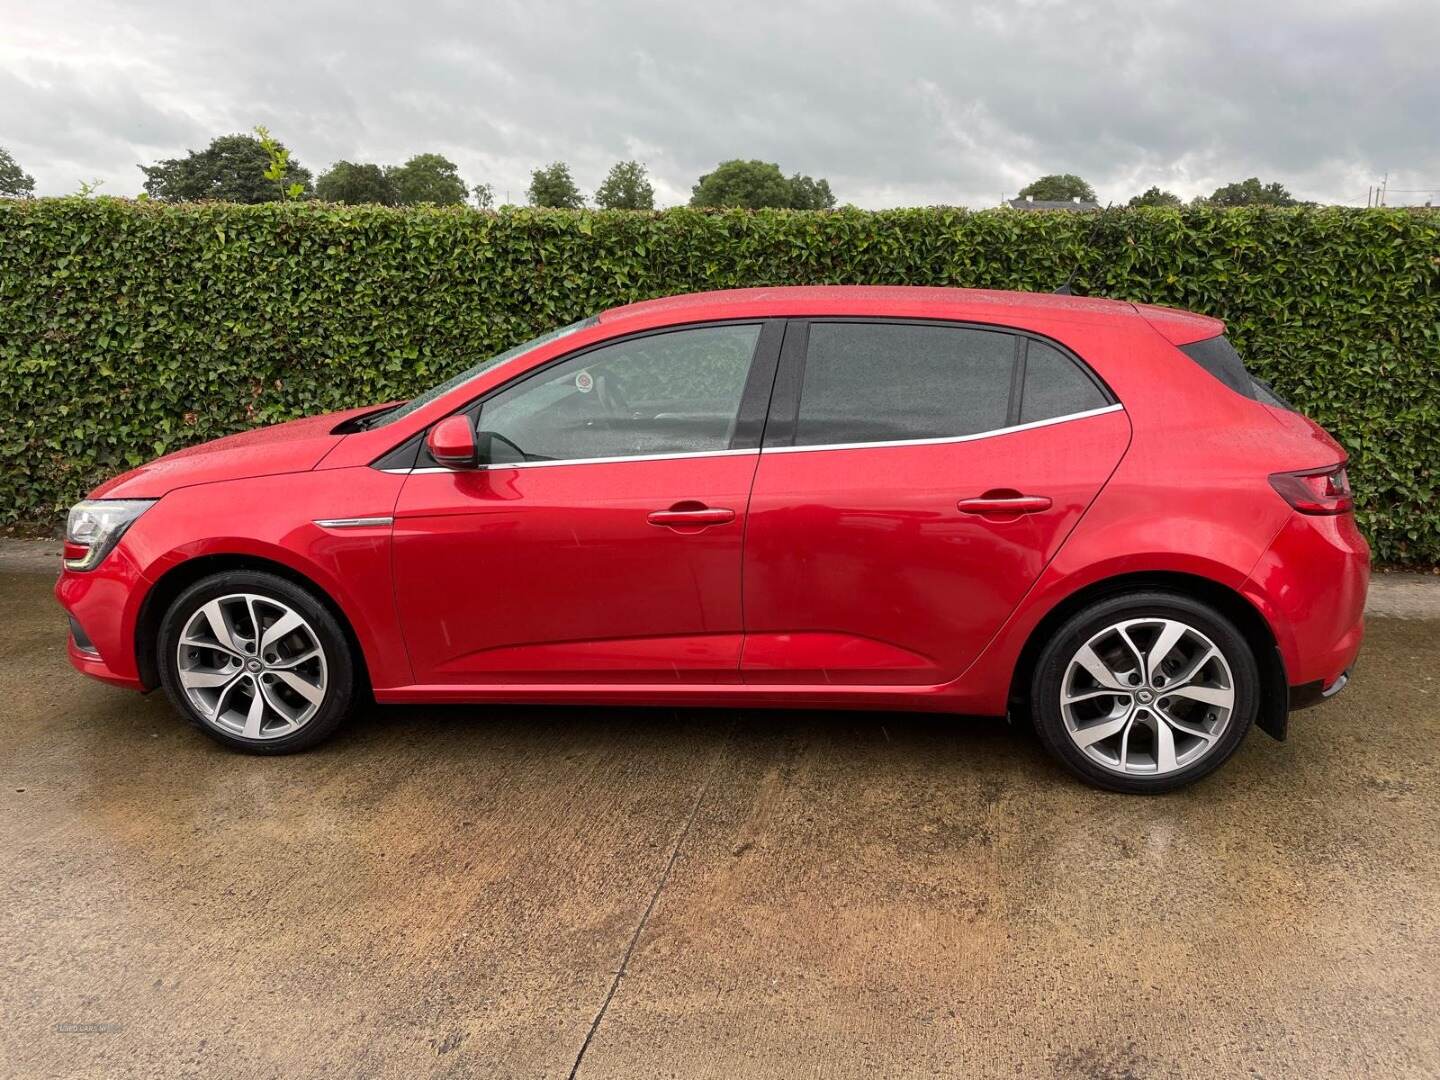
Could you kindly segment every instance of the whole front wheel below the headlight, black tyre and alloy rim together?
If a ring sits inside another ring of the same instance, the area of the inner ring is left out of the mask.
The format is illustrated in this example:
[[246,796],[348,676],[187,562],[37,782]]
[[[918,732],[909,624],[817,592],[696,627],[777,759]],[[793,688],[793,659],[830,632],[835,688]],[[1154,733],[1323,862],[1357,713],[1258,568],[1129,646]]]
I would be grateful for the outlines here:
[[359,665],[336,616],[261,570],[217,573],[181,592],[160,621],[158,665],[176,710],[245,753],[310,749],[359,697]]

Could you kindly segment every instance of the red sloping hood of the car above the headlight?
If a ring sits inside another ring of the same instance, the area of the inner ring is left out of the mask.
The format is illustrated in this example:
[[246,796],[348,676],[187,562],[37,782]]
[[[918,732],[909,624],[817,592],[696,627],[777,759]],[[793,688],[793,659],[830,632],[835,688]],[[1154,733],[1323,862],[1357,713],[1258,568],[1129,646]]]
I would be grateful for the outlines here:
[[202,442],[122,472],[95,488],[91,498],[160,498],[176,488],[213,484],[220,480],[268,477],[276,472],[308,472],[333,451],[344,433],[344,420],[373,410],[347,409],[324,416],[307,416],[271,428],[256,428]]

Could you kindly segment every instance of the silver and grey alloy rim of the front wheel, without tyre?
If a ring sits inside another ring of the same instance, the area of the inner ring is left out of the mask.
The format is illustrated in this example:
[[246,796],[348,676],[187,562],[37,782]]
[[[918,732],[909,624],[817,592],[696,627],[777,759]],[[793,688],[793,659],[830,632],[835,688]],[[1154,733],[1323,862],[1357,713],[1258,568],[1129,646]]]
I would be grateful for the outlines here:
[[176,647],[176,675],[206,723],[245,739],[281,739],[325,700],[325,651],[314,628],[272,596],[232,593],[200,605]]

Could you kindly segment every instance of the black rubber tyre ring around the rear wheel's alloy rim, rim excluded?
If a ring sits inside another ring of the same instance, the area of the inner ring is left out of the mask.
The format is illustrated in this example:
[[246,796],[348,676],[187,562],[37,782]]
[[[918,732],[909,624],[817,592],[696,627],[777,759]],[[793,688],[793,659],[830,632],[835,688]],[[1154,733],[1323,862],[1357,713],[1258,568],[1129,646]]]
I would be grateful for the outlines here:
[[[1234,678],[1236,706],[1220,742],[1198,762],[1165,776],[1128,776],[1090,760],[1074,744],[1060,713],[1060,685],[1076,651],[1094,634],[1125,619],[1179,619],[1208,636],[1221,651]],[[1045,645],[1031,683],[1031,714],[1047,749],[1083,779],[1110,791],[1159,793],[1182,788],[1214,772],[1238,749],[1260,708],[1260,668],[1248,642],[1224,615],[1188,596],[1164,592],[1112,596],[1066,621]]]

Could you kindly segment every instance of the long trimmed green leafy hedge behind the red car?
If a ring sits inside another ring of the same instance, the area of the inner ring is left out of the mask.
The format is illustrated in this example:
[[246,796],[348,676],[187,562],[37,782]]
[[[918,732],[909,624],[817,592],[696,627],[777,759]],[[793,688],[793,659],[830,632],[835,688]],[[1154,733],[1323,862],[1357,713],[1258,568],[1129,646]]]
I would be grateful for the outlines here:
[[661,213],[0,200],[0,523],[259,423],[406,397],[600,308],[739,285],[1080,294],[1218,315],[1440,563],[1440,213]]

